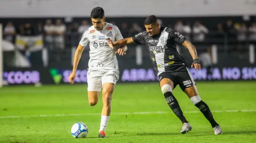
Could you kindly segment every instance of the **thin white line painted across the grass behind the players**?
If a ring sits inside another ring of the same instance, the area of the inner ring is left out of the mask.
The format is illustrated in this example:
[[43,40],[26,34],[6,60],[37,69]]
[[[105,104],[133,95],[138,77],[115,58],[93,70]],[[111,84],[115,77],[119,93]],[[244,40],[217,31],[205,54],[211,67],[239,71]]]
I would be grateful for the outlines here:
[[[256,112],[256,109],[249,110],[213,110],[213,113],[221,112]],[[157,111],[157,112],[121,112],[121,113],[111,113],[114,115],[129,115],[129,114],[168,114],[171,112]],[[200,113],[200,111],[185,111],[184,113]],[[47,117],[47,116],[90,116],[90,115],[101,115],[101,113],[89,113],[89,114],[55,114],[55,115],[11,115],[11,116],[0,116],[0,119],[6,118],[33,118],[33,117]]]

